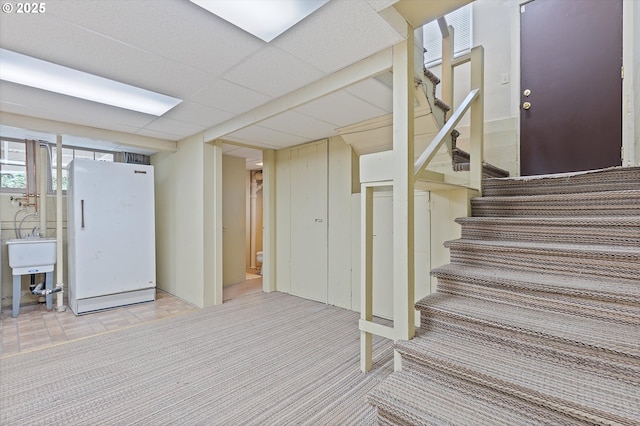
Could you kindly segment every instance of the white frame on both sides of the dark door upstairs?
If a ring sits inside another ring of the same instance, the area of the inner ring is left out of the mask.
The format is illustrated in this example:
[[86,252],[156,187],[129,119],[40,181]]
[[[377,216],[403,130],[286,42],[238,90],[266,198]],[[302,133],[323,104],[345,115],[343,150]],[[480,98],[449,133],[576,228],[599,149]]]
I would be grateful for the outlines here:
[[[511,19],[511,112],[517,118],[517,164],[518,173],[520,172],[520,7],[534,0],[524,0],[513,2],[512,19]],[[632,91],[633,86],[633,44],[629,40],[633,40],[633,21],[634,14],[640,13],[640,5],[634,6],[635,0],[622,0],[622,66],[625,70],[622,79],[622,165],[632,166],[635,163],[635,126],[634,126],[634,106]],[[637,82],[640,84],[640,81]]]

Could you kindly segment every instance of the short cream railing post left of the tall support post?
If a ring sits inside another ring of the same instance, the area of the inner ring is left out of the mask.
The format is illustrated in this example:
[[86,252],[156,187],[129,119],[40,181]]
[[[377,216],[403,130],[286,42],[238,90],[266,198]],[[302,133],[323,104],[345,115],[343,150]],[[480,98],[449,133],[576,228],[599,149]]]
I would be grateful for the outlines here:
[[[373,320],[373,187],[362,184],[360,190],[360,318]],[[360,330],[360,369],[366,373],[373,364],[373,336]]]

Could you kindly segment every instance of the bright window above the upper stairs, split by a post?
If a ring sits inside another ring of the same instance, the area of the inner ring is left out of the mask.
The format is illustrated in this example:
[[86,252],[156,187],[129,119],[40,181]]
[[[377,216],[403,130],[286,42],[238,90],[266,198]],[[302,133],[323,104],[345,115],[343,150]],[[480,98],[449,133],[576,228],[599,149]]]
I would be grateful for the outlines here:
[[[471,6],[471,3],[467,4],[445,15],[447,25],[452,26],[455,31],[454,56],[471,49]],[[442,33],[437,21],[429,22],[423,27],[423,37],[424,48],[427,50],[424,55],[424,63],[427,67],[436,65],[442,61]]]

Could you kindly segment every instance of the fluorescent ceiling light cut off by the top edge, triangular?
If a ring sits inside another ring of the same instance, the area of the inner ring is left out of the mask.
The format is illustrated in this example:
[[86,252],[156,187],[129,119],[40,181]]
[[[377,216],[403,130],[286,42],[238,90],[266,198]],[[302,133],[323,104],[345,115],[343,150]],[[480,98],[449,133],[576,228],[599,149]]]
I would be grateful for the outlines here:
[[329,0],[191,0],[267,43]]

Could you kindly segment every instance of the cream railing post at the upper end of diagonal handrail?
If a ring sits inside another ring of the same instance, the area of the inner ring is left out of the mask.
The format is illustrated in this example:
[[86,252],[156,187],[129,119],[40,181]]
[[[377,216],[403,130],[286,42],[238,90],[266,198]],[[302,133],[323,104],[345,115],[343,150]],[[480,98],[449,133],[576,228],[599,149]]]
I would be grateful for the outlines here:
[[482,163],[484,161],[484,48],[471,49],[471,90],[478,89],[478,98],[471,105],[469,184],[482,193]]

